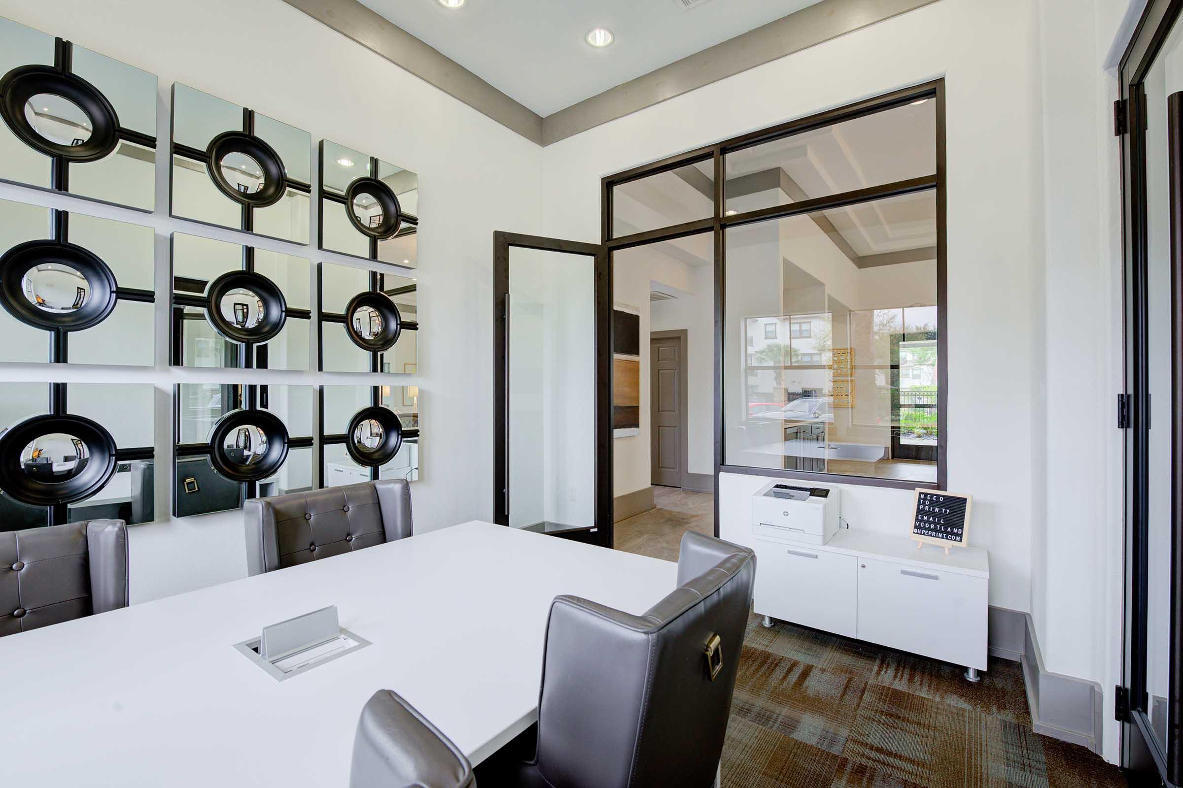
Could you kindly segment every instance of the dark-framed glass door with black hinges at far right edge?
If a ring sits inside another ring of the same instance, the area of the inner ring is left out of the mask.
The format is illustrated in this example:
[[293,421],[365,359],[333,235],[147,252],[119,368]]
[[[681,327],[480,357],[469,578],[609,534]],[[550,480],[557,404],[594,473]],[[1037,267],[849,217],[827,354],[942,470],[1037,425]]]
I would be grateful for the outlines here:
[[1126,649],[1132,784],[1176,786],[1183,526],[1183,22],[1152,1],[1121,66],[1125,121]]

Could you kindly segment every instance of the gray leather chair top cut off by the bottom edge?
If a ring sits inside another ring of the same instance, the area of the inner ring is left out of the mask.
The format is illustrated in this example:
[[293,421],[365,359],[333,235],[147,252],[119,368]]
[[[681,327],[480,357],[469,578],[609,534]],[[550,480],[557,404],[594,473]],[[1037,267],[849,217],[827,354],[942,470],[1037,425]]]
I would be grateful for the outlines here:
[[472,766],[455,744],[409,703],[379,690],[354,735],[350,788],[474,788]]

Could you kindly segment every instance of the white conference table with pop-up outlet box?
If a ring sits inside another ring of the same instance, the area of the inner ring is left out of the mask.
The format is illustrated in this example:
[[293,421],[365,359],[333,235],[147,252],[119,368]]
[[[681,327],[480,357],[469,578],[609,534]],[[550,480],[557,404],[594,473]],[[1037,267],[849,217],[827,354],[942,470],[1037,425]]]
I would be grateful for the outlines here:
[[[479,762],[537,719],[550,601],[641,613],[677,565],[487,522],[0,638],[20,786],[344,786],[392,689]],[[336,605],[373,645],[277,682],[233,644]]]

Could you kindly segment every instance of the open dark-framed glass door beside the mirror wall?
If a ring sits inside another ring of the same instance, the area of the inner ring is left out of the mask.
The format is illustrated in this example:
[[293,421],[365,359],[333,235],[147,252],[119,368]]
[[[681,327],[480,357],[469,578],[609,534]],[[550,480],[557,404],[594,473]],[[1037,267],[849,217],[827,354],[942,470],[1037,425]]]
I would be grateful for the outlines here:
[[494,234],[500,525],[612,545],[608,275],[601,246]]

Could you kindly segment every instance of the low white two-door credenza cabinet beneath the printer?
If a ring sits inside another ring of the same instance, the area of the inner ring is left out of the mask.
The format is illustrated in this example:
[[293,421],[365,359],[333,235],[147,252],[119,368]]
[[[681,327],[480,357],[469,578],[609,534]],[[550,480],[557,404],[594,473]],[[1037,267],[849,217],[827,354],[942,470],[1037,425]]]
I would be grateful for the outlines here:
[[990,568],[980,547],[916,548],[843,529],[823,546],[754,538],[759,616],[987,667]]

